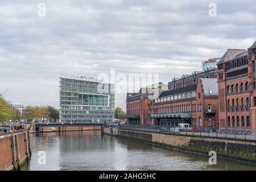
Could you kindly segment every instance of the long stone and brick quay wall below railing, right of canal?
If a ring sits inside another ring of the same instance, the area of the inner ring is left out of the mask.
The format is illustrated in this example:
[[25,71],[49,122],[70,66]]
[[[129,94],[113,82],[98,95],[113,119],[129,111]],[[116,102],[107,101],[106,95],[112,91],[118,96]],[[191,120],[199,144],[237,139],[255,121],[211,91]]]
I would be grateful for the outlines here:
[[181,136],[127,129],[118,129],[118,137],[205,156],[209,156],[209,151],[216,151],[218,157],[256,165],[256,141]]

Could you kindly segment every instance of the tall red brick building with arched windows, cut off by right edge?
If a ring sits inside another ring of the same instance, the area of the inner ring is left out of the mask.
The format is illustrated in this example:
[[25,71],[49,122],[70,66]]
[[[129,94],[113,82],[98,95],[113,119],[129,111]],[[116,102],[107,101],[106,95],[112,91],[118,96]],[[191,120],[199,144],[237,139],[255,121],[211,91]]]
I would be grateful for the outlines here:
[[220,127],[255,133],[256,42],[246,49],[228,49],[218,62]]

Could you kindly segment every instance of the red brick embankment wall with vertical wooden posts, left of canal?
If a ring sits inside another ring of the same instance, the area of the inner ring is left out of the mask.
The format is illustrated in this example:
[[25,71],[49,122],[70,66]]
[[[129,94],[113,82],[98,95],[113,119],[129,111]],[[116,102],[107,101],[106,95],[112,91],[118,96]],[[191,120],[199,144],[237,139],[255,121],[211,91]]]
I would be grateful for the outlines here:
[[0,134],[0,171],[19,170],[31,156],[30,133],[27,129]]

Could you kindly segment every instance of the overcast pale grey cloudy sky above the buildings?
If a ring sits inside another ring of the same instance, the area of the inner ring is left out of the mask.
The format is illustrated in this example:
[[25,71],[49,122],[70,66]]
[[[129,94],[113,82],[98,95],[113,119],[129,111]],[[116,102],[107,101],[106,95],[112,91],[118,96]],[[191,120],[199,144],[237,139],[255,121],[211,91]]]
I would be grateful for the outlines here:
[[[254,0],[0,0],[0,93],[14,103],[59,107],[59,77],[97,77],[111,68],[159,73],[167,84],[227,48],[250,47],[255,7]],[[116,97],[123,109],[125,97]]]

